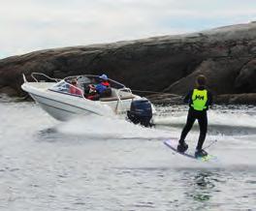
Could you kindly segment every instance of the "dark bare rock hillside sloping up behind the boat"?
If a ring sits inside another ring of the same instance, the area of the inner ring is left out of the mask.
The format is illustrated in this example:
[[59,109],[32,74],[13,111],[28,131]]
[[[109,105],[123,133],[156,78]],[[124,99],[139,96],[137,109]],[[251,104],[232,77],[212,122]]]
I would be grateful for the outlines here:
[[0,93],[22,97],[22,74],[109,75],[152,102],[179,104],[197,75],[217,104],[256,105],[256,22],[106,45],[39,50],[0,60]]

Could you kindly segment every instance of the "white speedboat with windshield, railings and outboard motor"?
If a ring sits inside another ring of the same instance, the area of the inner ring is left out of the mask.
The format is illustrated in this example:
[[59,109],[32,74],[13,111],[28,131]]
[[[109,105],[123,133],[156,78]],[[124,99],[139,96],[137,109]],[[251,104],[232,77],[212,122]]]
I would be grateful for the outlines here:
[[[130,88],[109,78],[111,95],[89,100],[89,88],[99,82],[99,75],[74,75],[64,79],[33,73],[33,82],[23,75],[21,88],[55,119],[66,121],[78,115],[97,114],[114,116],[127,114],[134,123],[149,124],[153,105],[147,99],[134,95]],[[76,79],[77,85],[72,81]],[[73,91],[71,92],[71,88]],[[75,92],[74,92],[75,90]],[[139,114],[139,115],[138,115]]]

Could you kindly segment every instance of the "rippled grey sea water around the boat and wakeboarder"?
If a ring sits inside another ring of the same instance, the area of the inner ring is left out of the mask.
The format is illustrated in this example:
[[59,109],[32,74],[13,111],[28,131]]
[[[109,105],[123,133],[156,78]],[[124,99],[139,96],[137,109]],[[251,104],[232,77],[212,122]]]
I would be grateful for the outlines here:
[[163,144],[180,135],[186,106],[157,113],[148,129],[97,116],[58,122],[34,103],[0,103],[0,210],[256,210],[254,106],[208,111],[212,163]]

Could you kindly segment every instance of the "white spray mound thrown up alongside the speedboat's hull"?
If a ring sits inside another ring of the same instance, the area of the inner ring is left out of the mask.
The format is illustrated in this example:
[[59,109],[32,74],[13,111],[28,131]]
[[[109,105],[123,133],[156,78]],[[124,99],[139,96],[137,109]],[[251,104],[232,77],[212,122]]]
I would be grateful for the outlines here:
[[63,134],[80,135],[91,138],[168,138],[172,130],[163,131],[134,125],[123,119],[90,115],[57,126],[57,131]]

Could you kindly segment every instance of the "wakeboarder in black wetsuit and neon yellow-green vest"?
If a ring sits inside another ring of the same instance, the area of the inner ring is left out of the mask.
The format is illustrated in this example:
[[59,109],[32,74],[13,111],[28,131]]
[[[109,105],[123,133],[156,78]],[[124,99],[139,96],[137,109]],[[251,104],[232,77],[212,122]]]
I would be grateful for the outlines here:
[[204,157],[208,153],[202,148],[208,132],[208,105],[212,105],[212,95],[206,88],[207,78],[205,75],[198,75],[196,79],[196,88],[191,90],[184,98],[184,103],[189,104],[186,125],[184,126],[178,140],[177,151],[185,152],[188,145],[185,137],[198,120],[200,136],[195,152],[195,157]]

